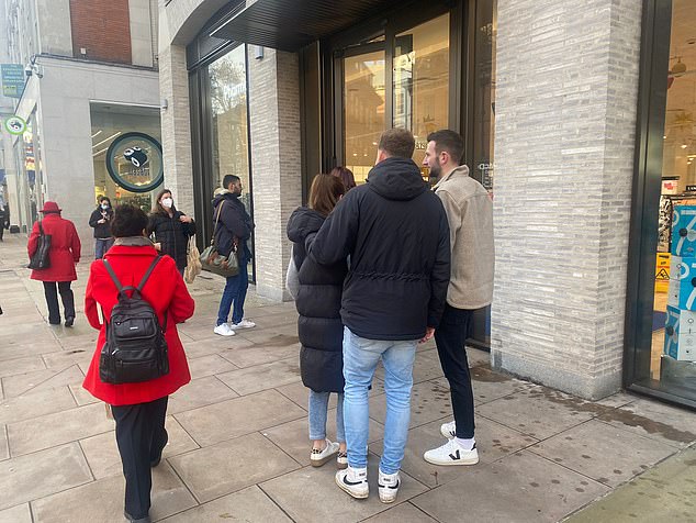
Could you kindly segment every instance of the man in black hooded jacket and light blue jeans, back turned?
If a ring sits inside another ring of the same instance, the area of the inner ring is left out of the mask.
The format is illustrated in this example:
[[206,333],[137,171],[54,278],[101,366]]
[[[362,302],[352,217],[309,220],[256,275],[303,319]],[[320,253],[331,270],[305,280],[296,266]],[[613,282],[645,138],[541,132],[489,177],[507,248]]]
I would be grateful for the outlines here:
[[411,159],[414,147],[411,132],[385,131],[368,183],[346,193],[310,247],[322,265],[350,256],[340,310],[348,468],[336,483],[353,498],[369,496],[368,388],[381,359],[386,419],[378,488],[384,503],[396,499],[401,485],[416,345],[438,327],[449,281],[447,215]]

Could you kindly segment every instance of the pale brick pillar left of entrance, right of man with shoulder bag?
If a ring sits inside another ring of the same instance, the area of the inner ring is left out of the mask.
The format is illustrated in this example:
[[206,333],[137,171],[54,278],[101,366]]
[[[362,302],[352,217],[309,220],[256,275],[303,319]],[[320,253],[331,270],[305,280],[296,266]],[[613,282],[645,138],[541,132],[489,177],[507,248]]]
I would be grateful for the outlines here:
[[251,176],[257,292],[287,299],[290,259],[285,224],[302,202],[298,55],[265,49],[249,60]]

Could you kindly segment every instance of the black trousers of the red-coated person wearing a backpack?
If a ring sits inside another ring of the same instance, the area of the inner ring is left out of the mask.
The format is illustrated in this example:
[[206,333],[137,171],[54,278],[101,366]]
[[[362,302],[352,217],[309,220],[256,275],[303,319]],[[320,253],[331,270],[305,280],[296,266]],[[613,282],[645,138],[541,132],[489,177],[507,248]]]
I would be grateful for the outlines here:
[[165,396],[148,403],[111,407],[116,421],[116,444],[125,476],[125,512],[139,520],[150,507],[153,476],[150,464],[158,459],[167,444]]

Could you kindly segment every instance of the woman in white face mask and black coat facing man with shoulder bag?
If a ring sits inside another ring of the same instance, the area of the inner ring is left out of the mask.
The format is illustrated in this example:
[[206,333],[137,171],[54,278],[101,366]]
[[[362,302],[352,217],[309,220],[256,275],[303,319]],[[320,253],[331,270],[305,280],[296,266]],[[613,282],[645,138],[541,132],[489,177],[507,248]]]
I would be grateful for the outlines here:
[[155,247],[171,256],[183,276],[189,238],[195,234],[195,222],[175,207],[169,189],[159,191],[155,202],[147,223],[147,235],[155,236]]

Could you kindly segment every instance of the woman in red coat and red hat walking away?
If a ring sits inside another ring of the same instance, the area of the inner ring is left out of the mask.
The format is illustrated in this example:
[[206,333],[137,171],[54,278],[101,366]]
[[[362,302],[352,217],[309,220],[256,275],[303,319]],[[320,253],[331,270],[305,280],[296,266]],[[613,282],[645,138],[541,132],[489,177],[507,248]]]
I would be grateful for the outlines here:
[[[75,297],[70,282],[77,279],[75,264],[80,260],[80,238],[70,220],[60,218],[60,209],[55,201],[47,201],[41,210],[44,219],[41,224],[44,234],[50,235],[50,249],[47,269],[32,270],[32,279],[44,282],[44,294],[48,307],[48,323],[60,325],[60,309],[58,309],[58,292],[63,300],[65,325],[72,326],[75,322]],[[29,257],[34,255],[38,247],[38,222],[34,223],[32,234],[29,236]],[[58,291],[56,292],[56,283]]]

